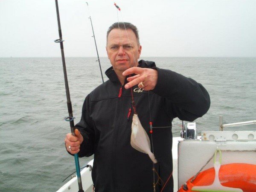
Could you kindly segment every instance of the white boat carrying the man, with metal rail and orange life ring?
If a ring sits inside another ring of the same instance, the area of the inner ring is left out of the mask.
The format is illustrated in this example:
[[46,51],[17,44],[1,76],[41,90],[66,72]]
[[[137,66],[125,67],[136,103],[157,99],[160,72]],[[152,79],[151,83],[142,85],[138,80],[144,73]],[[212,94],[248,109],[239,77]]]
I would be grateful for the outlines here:
[[[231,187],[236,188],[236,186],[246,186],[248,184],[247,186],[249,187],[245,187],[244,192],[255,192],[256,131],[223,131],[223,128],[256,124],[256,120],[223,124],[223,117],[220,116],[219,119],[219,131],[202,131],[201,136],[197,136],[196,123],[188,122],[186,126],[185,123],[183,123],[183,130],[180,132],[180,137],[173,137],[174,191],[191,191],[191,189],[188,189],[189,185],[187,185],[187,183],[189,183],[195,175],[200,179],[199,175],[206,174],[206,172],[211,172],[210,175],[204,175],[203,177],[209,177],[209,181],[208,183],[202,181],[203,184],[201,183],[200,185],[209,186],[215,179],[212,167],[215,160],[213,157],[216,156],[217,150],[221,151],[222,161],[220,174],[216,177],[221,178],[224,176],[224,178],[226,178],[226,181],[221,180],[221,185],[225,185],[224,182],[227,183],[228,179],[241,179],[249,175],[250,179],[247,179],[247,183],[241,183],[238,180],[233,183],[231,182]],[[221,171],[222,167],[226,170],[233,170],[230,177],[227,178],[227,175],[230,175],[230,173]],[[237,171],[233,169],[234,167],[236,167]],[[92,169],[93,160],[90,160],[86,168],[81,170],[84,192],[92,192],[93,190],[93,181],[91,179]],[[244,171],[242,175],[241,171]],[[57,192],[77,192],[78,190],[77,177],[73,175]],[[215,190],[215,192],[216,191],[220,190]]]

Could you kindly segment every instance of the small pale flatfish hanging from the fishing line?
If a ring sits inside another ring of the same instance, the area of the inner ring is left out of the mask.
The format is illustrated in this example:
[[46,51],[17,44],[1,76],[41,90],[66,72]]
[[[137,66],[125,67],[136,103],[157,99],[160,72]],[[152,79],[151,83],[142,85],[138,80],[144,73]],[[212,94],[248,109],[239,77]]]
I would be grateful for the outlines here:
[[133,115],[131,124],[131,146],[136,150],[148,154],[153,163],[157,163],[154,154],[150,150],[150,140],[145,129],[140,123],[137,114]]

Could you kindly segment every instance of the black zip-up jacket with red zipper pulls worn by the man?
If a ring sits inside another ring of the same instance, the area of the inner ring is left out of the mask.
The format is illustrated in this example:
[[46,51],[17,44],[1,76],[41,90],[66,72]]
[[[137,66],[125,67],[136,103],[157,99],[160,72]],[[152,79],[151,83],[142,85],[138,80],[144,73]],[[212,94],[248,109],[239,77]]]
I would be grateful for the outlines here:
[[[194,121],[203,116],[209,109],[209,94],[193,79],[159,69],[154,62],[141,60],[139,67],[158,71],[154,90],[142,91],[137,86],[132,90],[137,114],[149,137],[150,115],[154,127],[169,127],[155,128],[152,134],[158,161],[154,166],[165,182],[172,173],[172,119]],[[148,154],[130,144],[131,89],[120,84],[112,67],[105,74],[109,80],[86,97],[81,121],[76,124],[84,137],[79,157],[94,154],[92,178],[96,192],[153,192],[152,162]],[[157,191],[160,188],[157,185]],[[167,191],[173,191],[172,179],[164,189]]]

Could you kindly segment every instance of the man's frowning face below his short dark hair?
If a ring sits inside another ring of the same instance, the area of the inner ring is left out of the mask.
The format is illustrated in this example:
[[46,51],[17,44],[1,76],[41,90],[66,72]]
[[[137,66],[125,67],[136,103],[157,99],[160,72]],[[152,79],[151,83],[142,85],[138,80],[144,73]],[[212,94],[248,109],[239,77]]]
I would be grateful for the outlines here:
[[131,29],[127,29],[127,33],[122,29],[112,29],[108,35],[106,49],[113,69],[119,74],[135,67],[140,58],[141,46],[138,45],[136,35]]

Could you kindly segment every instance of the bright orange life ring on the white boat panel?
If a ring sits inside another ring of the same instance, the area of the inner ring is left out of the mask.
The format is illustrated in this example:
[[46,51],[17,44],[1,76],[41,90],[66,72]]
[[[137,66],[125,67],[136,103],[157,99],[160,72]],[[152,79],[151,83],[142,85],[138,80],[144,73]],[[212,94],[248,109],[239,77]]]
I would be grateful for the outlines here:
[[[198,174],[193,183],[187,182],[187,190],[183,189],[183,185],[178,192],[193,192],[193,186],[207,186],[211,185],[214,181],[215,170],[214,168],[207,169]],[[227,187],[234,187],[242,189],[243,192],[256,192],[256,165],[247,163],[231,163],[221,165],[219,170],[219,180],[221,185]]]

